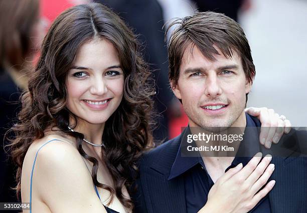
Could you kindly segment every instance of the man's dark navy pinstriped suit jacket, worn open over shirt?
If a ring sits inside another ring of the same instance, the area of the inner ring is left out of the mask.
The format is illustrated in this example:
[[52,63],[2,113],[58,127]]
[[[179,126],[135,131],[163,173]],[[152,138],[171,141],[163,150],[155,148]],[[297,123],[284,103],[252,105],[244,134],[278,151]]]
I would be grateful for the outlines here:
[[[260,122],[253,118],[257,126]],[[182,135],[169,140],[156,149],[144,154],[139,163],[139,178],[136,180],[137,192],[132,195],[135,212],[141,213],[184,213],[186,212],[186,195],[183,175],[168,180],[176,158]],[[275,170],[270,179],[276,183],[269,192],[272,213],[306,213],[307,212],[307,158],[298,157],[297,142],[307,138],[306,132],[291,130],[279,141],[279,146],[291,141],[296,144],[287,149],[287,156],[274,157]],[[304,149],[307,141],[302,141]],[[262,148],[263,153],[270,150]]]

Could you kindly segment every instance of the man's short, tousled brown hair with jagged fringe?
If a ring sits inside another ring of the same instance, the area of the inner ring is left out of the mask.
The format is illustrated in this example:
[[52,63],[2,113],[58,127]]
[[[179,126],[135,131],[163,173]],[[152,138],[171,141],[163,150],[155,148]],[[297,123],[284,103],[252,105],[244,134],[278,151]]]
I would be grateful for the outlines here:
[[[218,48],[226,58],[236,51],[241,58],[246,79],[252,83],[255,66],[246,36],[238,23],[224,14],[197,12],[195,15],[177,19],[172,26],[179,25],[171,35],[169,51],[169,79],[175,88],[179,79],[179,68],[186,48],[196,45],[209,60],[215,61]],[[215,48],[216,47],[216,48]]]

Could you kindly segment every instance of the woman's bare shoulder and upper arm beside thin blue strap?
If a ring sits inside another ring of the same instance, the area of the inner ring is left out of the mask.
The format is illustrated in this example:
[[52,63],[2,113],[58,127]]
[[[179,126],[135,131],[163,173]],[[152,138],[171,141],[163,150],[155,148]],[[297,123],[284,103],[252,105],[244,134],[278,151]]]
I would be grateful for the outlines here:
[[34,194],[44,200],[52,212],[71,209],[73,212],[104,212],[91,174],[74,141],[64,139],[67,138],[46,135],[31,145],[30,158],[36,156]]

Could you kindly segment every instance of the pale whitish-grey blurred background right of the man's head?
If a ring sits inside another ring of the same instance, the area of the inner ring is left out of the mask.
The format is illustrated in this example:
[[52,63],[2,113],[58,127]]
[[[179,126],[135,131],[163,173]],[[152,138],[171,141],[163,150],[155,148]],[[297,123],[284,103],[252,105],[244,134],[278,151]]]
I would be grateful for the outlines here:
[[249,41],[256,78],[248,106],[284,114],[307,126],[307,1],[254,0],[239,16]]

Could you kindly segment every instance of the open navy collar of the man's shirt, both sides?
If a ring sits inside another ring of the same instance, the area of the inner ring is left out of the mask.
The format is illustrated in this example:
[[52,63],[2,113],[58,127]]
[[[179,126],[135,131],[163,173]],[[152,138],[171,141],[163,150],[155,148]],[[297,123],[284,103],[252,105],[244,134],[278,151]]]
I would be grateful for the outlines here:
[[[233,165],[237,165],[242,162],[243,166],[245,166],[248,163],[248,161],[252,158],[252,156],[255,153],[260,151],[259,134],[256,128],[256,124],[253,121],[253,119],[250,117],[250,115],[248,115],[247,113],[245,113],[245,115],[246,115],[246,127],[247,128],[245,128],[244,137],[238,149],[238,153],[243,153],[245,157],[238,156],[237,154],[232,162]],[[251,128],[251,127],[254,127],[254,128]],[[200,154],[198,154],[197,157],[183,157],[181,155],[181,148],[183,145],[183,141],[184,140],[187,141],[187,135],[189,134],[192,134],[192,133],[191,133],[190,127],[188,126],[187,128],[185,128],[185,130],[182,133],[181,144],[179,146],[175,161],[172,165],[170,176],[168,180],[171,180],[183,174],[184,172],[194,167],[198,163],[200,163],[203,167],[205,167],[203,159]],[[193,140],[192,143],[195,144],[195,141]]]

